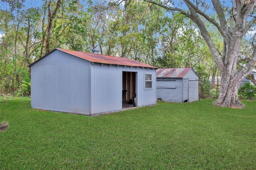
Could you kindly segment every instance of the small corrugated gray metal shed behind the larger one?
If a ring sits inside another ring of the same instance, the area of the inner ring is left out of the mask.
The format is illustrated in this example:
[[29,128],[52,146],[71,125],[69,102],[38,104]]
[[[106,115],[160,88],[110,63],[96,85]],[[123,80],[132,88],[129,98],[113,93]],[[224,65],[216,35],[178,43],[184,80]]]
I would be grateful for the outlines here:
[[193,68],[160,68],[156,71],[156,98],[165,102],[199,100],[198,75]]

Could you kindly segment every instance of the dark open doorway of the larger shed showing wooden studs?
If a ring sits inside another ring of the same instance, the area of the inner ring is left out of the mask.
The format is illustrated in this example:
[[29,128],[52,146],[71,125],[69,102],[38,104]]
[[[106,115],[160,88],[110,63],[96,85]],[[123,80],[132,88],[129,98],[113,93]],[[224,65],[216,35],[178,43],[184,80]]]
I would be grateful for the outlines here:
[[134,98],[136,98],[136,72],[123,71],[122,90],[122,108],[134,107]]

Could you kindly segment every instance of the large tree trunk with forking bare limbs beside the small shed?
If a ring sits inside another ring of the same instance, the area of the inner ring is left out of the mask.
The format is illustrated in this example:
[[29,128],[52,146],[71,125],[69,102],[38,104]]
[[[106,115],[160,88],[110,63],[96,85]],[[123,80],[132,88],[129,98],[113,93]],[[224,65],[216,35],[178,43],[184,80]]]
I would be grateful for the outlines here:
[[[206,41],[215,63],[220,68],[220,95],[218,101],[214,105],[221,107],[244,107],[244,105],[238,99],[238,88],[242,80],[250,73],[252,67],[255,66],[255,50],[250,58],[251,63],[246,64],[242,70],[237,70],[236,64],[244,33],[246,30],[248,30],[248,27],[246,27],[246,20],[248,17],[248,12],[250,11],[248,10],[249,8],[243,4],[239,4],[240,1],[236,1],[238,3],[236,4],[237,15],[236,18],[233,16],[231,19],[232,21],[230,22],[230,27],[226,25],[226,20],[219,16],[221,25],[216,23],[215,25],[220,27],[219,31],[221,31],[224,40],[223,56],[221,56],[212,42],[208,31],[206,30],[204,22],[199,19],[196,13],[197,8],[193,6],[190,1],[185,0],[185,2],[191,12],[190,18],[198,25],[201,35]],[[217,12],[219,12],[221,15],[223,11],[218,11],[219,9],[217,6],[219,4],[217,1],[213,0],[212,2],[216,6]],[[253,4],[250,4],[250,8],[252,8],[252,6]]]

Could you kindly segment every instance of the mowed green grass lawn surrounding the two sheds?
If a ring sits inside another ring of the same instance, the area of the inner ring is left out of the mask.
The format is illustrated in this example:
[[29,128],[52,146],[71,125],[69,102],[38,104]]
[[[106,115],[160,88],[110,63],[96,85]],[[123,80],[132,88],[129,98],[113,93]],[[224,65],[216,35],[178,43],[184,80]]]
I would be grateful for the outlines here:
[[158,102],[88,117],[1,101],[0,169],[256,169],[256,102]]

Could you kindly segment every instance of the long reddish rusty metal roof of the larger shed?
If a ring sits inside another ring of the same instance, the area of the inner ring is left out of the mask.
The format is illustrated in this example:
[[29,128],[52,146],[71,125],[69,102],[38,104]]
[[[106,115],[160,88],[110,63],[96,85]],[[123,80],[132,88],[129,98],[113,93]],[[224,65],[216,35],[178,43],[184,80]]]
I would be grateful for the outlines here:
[[90,62],[94,62],[94,63],[156,68],[154,66],[140,63],[138,61],[124,58],[124,57],[114,57],[114,56],[101,55],[101,54],[95,54],[95,53],[85,53],[85,52],[81,52],[81,51],[65,50],[65,49],[59,49],[59,48],[56,48],[56,49],[63,51],[65,53],[68,53],[70,55],[74,55],[76,57],[88,60]]

